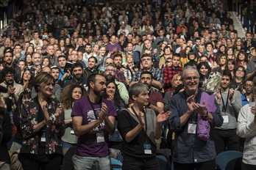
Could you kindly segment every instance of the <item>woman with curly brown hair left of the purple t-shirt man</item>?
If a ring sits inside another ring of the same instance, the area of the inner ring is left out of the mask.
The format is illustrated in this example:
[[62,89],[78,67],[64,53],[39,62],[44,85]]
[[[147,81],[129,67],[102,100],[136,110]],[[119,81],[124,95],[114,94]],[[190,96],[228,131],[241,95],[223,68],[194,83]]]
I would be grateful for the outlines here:
[[69,84],[65,86],[63,89],[63,93],[60,96],[60,101],[63,103],[65,110],[64,110],[64,117],[65,117],[65,133],[61,138],[63,148],[69,148],[77,145],[77,136],[74,134],[73,125],[72,125],[72,118],[71,112],[74,102],[79,100],[82,97],[86,97],[88,93],[86,92],[85,88],[80,86],[77,83]]

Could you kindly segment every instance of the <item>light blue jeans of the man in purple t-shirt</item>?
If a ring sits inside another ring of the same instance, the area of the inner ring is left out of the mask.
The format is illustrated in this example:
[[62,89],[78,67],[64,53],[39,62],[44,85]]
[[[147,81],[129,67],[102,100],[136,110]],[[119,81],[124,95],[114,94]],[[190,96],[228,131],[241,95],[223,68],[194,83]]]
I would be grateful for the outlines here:
[[74,155],[73,157],[75,170],[110,170],[110,157],[88,157]]

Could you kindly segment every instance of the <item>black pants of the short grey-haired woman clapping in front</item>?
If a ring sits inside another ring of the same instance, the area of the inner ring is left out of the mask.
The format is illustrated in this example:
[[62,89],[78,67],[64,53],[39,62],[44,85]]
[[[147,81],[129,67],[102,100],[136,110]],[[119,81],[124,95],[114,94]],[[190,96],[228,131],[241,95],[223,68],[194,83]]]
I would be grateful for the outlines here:
[[123,170],[160,170],[157,158],[138,159],[125,155]]

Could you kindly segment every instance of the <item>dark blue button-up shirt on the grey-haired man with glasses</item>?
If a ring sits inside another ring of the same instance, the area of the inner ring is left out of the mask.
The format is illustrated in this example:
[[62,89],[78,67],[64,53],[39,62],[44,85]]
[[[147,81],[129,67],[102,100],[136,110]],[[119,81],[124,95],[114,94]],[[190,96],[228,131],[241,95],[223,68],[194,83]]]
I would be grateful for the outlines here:
[[[195,97],[196,103],[199,103],[200,97],[201,91],[199,90]],[[197,122],[196,112],[193,112],[185,125],[180,127],[180,117],[188,111],[187,98],[188,94],[185,91],[171,98],[169,122],[171,131],[175,133],[171,142],[172,159],[177,163],[202,163],[213,160],[216,157],[213,129],[215,126],[220,127],[223,123],[218,103],[216,103],[216,112],[211,113],[214,122],[210,123],[210,138],[203,141],[197,137],[197,134],[188,133],[188,123]]]

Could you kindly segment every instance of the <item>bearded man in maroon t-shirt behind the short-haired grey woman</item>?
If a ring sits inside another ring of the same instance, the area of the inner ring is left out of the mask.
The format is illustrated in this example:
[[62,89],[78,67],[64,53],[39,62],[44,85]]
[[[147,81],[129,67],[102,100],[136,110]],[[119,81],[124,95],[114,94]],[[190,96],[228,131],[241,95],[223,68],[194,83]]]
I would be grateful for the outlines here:
[[[149,71],[143,71],[141,73],[141,79],[139,83],[146,84],[149,87],[149,104],[148,108],[152,108],[156,114],[163,112],[163,96],[159,92],[154,92],[151,88],[153,75]],[[132,99],[129,99],[129,107],[132,106]]]

